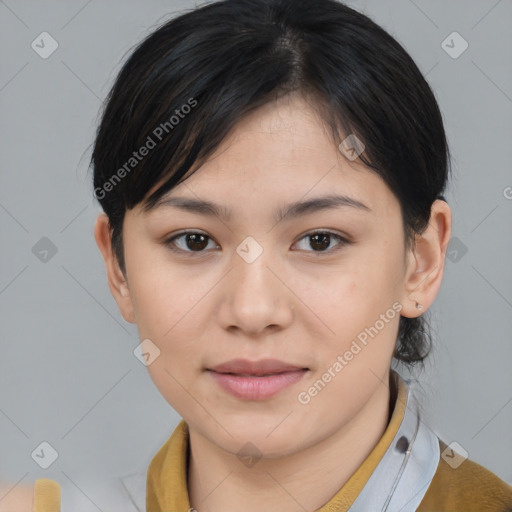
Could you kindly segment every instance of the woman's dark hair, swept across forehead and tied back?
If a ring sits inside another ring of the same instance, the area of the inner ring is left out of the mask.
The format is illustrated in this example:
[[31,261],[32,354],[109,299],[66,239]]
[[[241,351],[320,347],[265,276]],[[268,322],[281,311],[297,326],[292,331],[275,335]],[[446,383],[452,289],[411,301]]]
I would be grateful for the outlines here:
[[[106,99],[91,164],[123,273],[125,211],[151,209],[245,114],[292,91],[312,100],[333,142],[353,134],[364,143],[359,158],[397,197],[406,247],[414,244],[443,199],[450,155],[412,58],[335,0],[224,0],[153,31]],[[423,365],[430,349],[424,318],[401,317],[394,358]]]

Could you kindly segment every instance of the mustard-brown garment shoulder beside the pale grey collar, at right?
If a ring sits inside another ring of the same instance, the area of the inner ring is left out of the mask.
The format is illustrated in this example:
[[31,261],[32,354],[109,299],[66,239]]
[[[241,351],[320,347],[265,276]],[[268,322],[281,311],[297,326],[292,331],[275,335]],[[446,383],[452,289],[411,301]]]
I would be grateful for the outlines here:
[[[512,512],[512,487],[439,440],[437,470],[418,512]],[[445,452],[446,450],[446,452]]]

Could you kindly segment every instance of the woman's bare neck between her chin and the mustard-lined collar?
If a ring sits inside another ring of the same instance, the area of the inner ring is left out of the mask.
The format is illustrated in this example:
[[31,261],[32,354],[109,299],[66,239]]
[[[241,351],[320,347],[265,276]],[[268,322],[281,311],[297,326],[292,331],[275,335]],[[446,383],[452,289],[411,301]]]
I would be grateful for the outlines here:
[[389,388],[378,386],[357,416],[331,435],[291,455],[262,458],[250,468],[189,426],[191,507],[198,512],[303,512],[322,507],[386,430],[397,396],[394,379],[388,382]]

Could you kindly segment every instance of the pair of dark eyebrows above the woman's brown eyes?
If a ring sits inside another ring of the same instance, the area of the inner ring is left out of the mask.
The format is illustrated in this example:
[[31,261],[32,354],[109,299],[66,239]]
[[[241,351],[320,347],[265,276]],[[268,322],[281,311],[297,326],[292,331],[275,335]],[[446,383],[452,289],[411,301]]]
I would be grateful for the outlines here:
[[[180,210],[205,215],[208,217],[219,217],[224,221],[232,218],[232,210],[224,205],[219,205],[211,201],[194,199],[189,197],[163,197],[154,206],[153,209],[162,206],[179,208]],[[371,212],[371,209],[361,201],[345,195],[327,195],[315,197],[306,201],[296,201],[294,203],[277,208],[274,211],[274,220],[280,222],[285,217],[297,218],[305,215],[319,212],[322,210],[332,210],[341,207],[351,207],[360,211]]]

